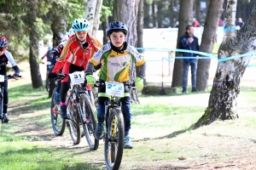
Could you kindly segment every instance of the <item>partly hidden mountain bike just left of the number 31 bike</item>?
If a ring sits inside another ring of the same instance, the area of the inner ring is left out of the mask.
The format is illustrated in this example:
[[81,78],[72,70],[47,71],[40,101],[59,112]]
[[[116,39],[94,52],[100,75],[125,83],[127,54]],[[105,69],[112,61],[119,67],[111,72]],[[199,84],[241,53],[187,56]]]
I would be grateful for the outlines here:
[[59,81],[65,78],[65,75],[57,75],[55,77],[55,89],[51,96],[51,104],[50,104],[50,120],[53,131],[56,136],[61,136],[65,132],[66,122],[61,118],[61,105],[60,103],[55,102],[55,91],[58,86]]

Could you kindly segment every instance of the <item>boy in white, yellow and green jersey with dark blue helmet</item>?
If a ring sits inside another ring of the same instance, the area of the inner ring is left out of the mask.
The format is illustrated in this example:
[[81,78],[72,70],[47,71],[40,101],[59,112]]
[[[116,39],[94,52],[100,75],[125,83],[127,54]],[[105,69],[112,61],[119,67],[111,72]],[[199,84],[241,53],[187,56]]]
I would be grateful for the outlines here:
[[[137,52],[137,49],[131,47],[125,42],[128,33],[127,26],[119,21],[114,21],[108,25],[106,30],[108,43],[105,44],[96,54],[90,59],[85,71],[85,78],[89,86],[94,86],[96,83],[95,77],[92,76],[93,69],[96,65],[102,62],[102,68],[99,72],[100,82],[128,82],[130,80],[130,64],[131,61],[137,67],[137,78],[135,86],[137,89],[143,89],[143,78],[146,70],[146,61],[142,55]],[[104,97],[106,89],[98,88],[98,110],[97,110],[97,126],[96,139],[102,139],[104,134],[104,103],[108,97]],[[120,99],[122,103],[122,111],[125,120],[125,149],[131,149],[132,143],[129,137],[131,129],[131,104],[129,88],[125,88],[125,97]]]

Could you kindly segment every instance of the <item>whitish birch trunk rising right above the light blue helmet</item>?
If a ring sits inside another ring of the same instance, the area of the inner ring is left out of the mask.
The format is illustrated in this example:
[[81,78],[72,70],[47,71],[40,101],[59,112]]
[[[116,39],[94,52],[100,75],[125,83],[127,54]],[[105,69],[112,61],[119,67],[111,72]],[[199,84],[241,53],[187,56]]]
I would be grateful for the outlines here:
[[87,8],[85,10],[85,19],[90,22],[90,30],[88,30],[90,34],[92,33],[92,27],[93,27],[93,22],[95,18],[96,3],[97,3],[96,0],[88,0]]

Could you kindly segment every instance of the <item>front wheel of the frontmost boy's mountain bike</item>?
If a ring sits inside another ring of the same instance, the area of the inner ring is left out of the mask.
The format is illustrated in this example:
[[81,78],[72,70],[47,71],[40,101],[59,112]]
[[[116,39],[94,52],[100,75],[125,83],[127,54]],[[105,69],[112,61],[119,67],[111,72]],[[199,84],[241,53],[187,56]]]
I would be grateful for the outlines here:
[[119,108],[109,111],[107,138],[104,144],[106,166],[111,170],[119,169],[124,150],[125,124]]

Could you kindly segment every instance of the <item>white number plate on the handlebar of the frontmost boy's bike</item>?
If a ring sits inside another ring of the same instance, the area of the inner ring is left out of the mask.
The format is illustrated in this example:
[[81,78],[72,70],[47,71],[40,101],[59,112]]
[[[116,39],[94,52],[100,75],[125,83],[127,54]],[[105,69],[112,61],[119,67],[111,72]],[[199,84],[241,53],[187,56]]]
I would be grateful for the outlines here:
[[124,97],[124,84],[120,82],[106,82],[106,94],[118,97]]

